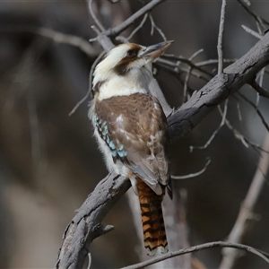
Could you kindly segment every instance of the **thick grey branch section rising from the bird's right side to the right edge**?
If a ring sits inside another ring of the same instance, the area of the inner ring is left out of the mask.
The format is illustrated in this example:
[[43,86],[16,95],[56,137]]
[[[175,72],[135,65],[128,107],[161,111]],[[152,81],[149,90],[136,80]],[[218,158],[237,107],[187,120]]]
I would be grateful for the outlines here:
[[169,134],[172,141],[187,134],[223,100],[246,83],[269,63],[269,33],[259,40],[246,55],[224,69],[196,91],[190,100],[168,118]]

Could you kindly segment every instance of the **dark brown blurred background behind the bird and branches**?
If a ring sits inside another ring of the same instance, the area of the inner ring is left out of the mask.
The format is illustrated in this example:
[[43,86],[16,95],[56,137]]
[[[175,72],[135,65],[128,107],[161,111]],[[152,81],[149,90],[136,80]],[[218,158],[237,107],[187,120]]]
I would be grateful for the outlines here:
[[[93,2],[105,28],[116,26],[143,6],[143,1]],[[146,1],[145,1],[146,2]],[[253,10],[269,21],[269,3],[256,1]],[[167,1],[152,11],[155,24],[175,43],[169,53],[190,57],[203,48],[195,62],[217,58],[221,1]],[[123,35],[128,36],[133,29]],[[51,268],[68,222],[87,195],[107,175],[87,114],[89,100],[69,117],[69,112],[89,88],[91,65],[102,49],[92,42],[91,56],[74,46],[40,37],[32,26],[56,30],[88,41],[95,38],[94,22],[84,1],[10,1],[0,3],[0,267]],[[238,2],[228,2],[224,57],[243,56],[256,39],[241,28],[256,30],[256,22]],[[131,41],[150,45],[162,40],[157,30],[151,35],[147,20]],[[216,72],[217,65],[208,70]],[[182,74],[184,78],[186,74]],[[181,77],[181,79],[182,79]],[[171,74],[157,74],[169,104],[178,108],[183,85]],[[193,78],[192,89],[204,80]],[[268,89],[268,74],[264,77]],[[256,91],[240,90],[256,102]],[[268,119],[268,100],[258,108]],[[239,117],[239,110],[242,119]],[[247,139],[262,145],[265,126],[256,111],[239,96],[228,105],[230,124]],[[239,207],[257,169],[260,154],[246,147],[223,126],[204,150],[190,146],[207,142],[221,123],[215,109],[203,122],[172,146],[171,173],[187,175],[210,166],[199,177],[178,180],[174,186],[187,191],[187,226],[190,245],[224,240],[238,216]],[[269,252],[269,187],[255,207],[243,243]],[[132,191],[132,190],[129,190]],[[92,268],[116,268],[139,261],[140,242],[134,231],[126,197],[108,213],[105,224],[115,230],[91,245]],[[207,268],[216,268],[221,250],[196,253]],[[104,258],[105,257],[105,258]],[[247,254],[235,268],[265,268],[265,262]]]

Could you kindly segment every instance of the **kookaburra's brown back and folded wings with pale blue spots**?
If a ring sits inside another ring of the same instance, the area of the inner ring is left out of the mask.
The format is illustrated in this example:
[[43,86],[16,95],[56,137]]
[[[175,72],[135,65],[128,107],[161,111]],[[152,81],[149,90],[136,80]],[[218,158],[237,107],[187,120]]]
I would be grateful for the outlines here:
[[168,127],[156,98],[142,93],[112,97],[97,101],[95,112],[114,162],[123,162],[153,189],[158,182],[169,183]]

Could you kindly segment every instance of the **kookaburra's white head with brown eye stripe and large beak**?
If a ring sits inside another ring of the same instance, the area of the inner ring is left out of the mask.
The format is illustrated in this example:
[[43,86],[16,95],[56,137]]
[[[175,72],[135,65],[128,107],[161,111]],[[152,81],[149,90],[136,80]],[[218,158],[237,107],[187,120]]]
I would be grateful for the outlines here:
[[152,61],[161,56],[172,42],[164,41],[149,47],[126,43],[112,48],[95,68],[93,90],[99,82],[108,82],[115,76],[129,79],[143,72],[152,75]]

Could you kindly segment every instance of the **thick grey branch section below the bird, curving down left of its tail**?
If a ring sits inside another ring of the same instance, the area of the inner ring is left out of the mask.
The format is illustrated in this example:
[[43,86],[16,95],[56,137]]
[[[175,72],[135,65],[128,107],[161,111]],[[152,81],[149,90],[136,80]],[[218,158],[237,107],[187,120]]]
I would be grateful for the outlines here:
[[101,221],[130,185],[129,180],[116,173],[100,181],[67,226],[56,268],[82,268],[91,241],[112,229],[103,227]]

